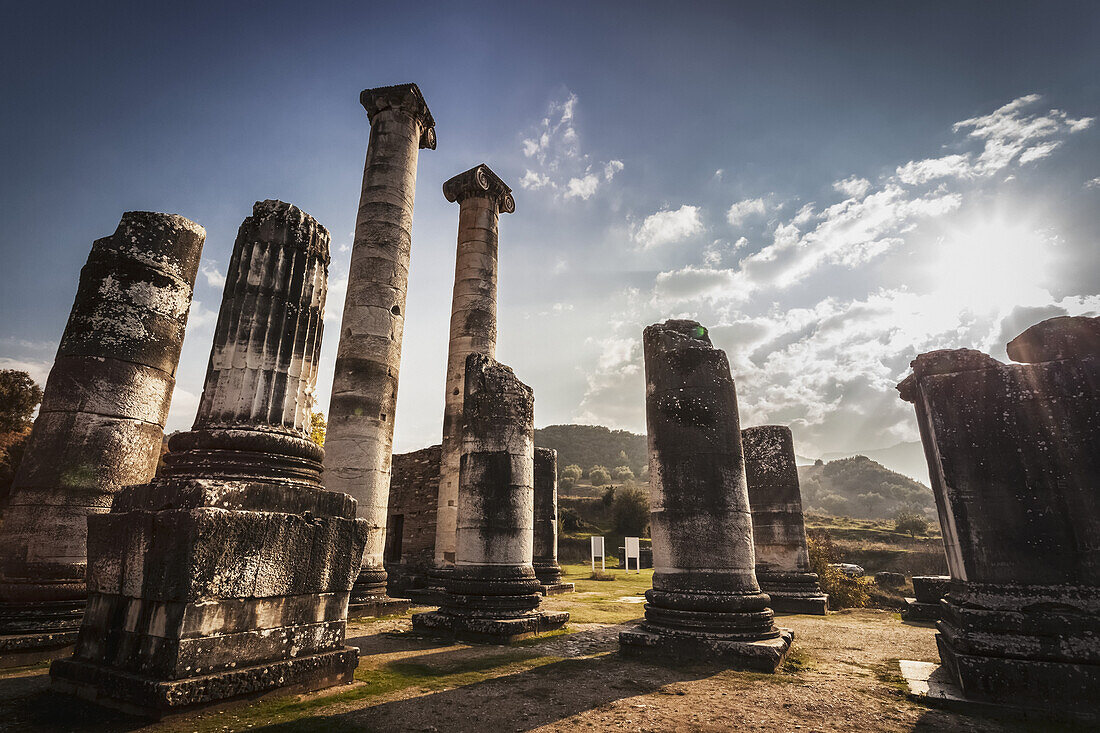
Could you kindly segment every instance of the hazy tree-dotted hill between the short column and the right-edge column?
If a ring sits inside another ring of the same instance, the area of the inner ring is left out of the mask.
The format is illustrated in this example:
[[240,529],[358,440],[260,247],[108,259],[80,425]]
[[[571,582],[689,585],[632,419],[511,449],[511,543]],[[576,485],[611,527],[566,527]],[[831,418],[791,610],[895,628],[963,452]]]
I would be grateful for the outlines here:
[[935,513],[932,489],[867,456],[800,466],[799,482],[807,512],[864,519],[890,518],[904,508]]

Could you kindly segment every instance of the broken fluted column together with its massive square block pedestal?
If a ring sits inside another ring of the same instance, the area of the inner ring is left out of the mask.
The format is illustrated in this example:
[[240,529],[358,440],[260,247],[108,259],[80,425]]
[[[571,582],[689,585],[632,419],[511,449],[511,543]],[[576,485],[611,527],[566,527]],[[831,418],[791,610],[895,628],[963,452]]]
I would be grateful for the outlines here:
[[366,540],[309,439],[329,233],[282,201],[237,237],[195,427],[162,473],[88,523],[88,610],[64,692],[160,716],[351,681]]

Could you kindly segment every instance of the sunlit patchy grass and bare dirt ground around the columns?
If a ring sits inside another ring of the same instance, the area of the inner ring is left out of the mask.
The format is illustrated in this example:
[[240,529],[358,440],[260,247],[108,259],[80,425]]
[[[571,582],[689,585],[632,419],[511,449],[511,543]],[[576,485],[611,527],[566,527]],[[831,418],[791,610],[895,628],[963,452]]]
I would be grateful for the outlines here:
[[[352,685],[228,703],[156,724],[51,693],[44,665],[0,675],[0,729],[9,731],[1023,731],[922,708],[899,689],[898,659],[936,660],[934,630],[893,613],[777,617],[794,647],[776,675],[617,654],[618,631],[641,617],[651,570],[590,580],[546,599],[566,610],[563,632],[513,646],[421,636],[408,615],[349,623],[361,650]],[[734,723],[736,721],[736,724]],[[1047,729],[1062,730],[1062,729]]]

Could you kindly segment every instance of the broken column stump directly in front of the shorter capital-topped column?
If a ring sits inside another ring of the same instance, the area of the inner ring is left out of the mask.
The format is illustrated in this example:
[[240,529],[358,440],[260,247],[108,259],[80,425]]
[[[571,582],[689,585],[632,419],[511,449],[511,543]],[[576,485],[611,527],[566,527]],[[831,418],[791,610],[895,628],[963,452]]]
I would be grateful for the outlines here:
[[414,628],[469,641],[512,642],[562,626],[541,612],[531,567],[535,395],[507,366],[466,357],[455,565],[439,611]]

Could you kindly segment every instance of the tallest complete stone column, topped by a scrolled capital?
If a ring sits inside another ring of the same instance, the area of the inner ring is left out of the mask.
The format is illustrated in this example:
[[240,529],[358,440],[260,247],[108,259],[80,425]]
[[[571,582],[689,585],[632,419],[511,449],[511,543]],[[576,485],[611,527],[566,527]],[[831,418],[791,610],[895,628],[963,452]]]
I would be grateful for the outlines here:
[[371,528],[355,597],[392,612],[400,609],[386,602],[383,553],[413,198],[417,155],[436,149],[436,122],[415,84],[364,89],[360,102],[371,140],[332,378],[326,484],[355,499]]

